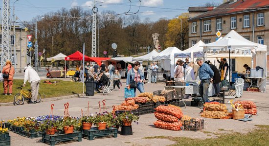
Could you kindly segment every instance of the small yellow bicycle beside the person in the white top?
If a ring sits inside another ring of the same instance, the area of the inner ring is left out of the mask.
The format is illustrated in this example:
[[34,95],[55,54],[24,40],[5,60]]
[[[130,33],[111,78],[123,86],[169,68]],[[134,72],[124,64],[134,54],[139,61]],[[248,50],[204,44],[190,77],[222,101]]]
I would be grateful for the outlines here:
[[[28,89],[27,91],[23,91],[22,90],[22,87],[17,87],[16,89],[21,89],[20,93],[16,94],[14,96],[14,105],[17,104],[17,105],[23,105],[24,104],[24,100],[27,101],[27,103],[29,103],[31,101],[31,98],[32,98],[32,93],[31,93],[31,89]],[[41,101],[41,94],[38,93],[38,96],[37,96],[37,100],[36,102],[40,102]]]

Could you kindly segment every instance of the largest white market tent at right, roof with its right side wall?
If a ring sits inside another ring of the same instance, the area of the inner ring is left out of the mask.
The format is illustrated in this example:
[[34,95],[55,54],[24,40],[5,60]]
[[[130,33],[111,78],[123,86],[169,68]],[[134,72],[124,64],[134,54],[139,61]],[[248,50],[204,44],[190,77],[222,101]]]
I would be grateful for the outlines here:
[[234,30],[230,31],[223,39],[203,46],[206,53],[231,53],[231,54],[253,54],[256,57],[256,66],[264,69],[263,78],[259,82],[260,90],[266,91],[267,76],[267,46],[251,42],[240,36]]

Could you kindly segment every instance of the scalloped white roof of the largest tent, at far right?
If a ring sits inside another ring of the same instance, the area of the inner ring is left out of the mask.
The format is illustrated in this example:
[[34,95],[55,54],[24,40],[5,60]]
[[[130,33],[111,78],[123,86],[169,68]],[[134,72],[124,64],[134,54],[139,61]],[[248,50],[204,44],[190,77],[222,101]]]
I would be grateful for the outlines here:
[[243,51],[244,54],[250,52],[256,53],[256,51],[259,52],[266,52],[267,46],[251,42],[247,40],[246,38],[240,36],[238,33],[236,33],[234,30],[231,30],[225,37],[223,37],[221,40],[206,44],[203,46],[204,52],[214,52],[214,51],[226,51],[227,47],[231,46],[231,51],[234,51],[234,53],[242,54]]

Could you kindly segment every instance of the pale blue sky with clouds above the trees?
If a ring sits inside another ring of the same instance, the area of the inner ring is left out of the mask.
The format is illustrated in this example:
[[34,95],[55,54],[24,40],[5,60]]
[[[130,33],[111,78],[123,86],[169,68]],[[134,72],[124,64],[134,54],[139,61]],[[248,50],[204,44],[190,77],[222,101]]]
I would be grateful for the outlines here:
[[[11,10],[16,0],[10,0]],[[99,12],[104,10],[115,11],[116,14],[123,14],[130,9],[130,1],[132,6],[130,13],[138,11],[138,15],[143,20],[150,18],[156,21],[159,18],[175,18],[181,13],[187,12],[189,6],[200,6],[206,2],[222,2],[222,0],[96,0],[96,6]],[[2,3],[0,4],[2,8]],[[38,15],[44,15],[48,12],[56,12],[65,7],[70,9],[74,6],[83,9],[92,9],[92,0],[19,0],[15,3],[15,15],[21,21],[30,21]],[[13,12],[11,11],[11,14]]]

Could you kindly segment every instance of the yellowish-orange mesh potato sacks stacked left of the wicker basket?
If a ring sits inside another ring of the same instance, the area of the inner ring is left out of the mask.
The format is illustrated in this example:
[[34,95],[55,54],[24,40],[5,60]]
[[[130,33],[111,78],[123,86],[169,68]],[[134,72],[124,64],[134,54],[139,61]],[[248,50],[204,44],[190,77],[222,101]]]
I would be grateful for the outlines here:
[[226,105],[216,103],[205,103],[203,104],[202,117],[214,118],[214,119],[227,119],[229,112]]

